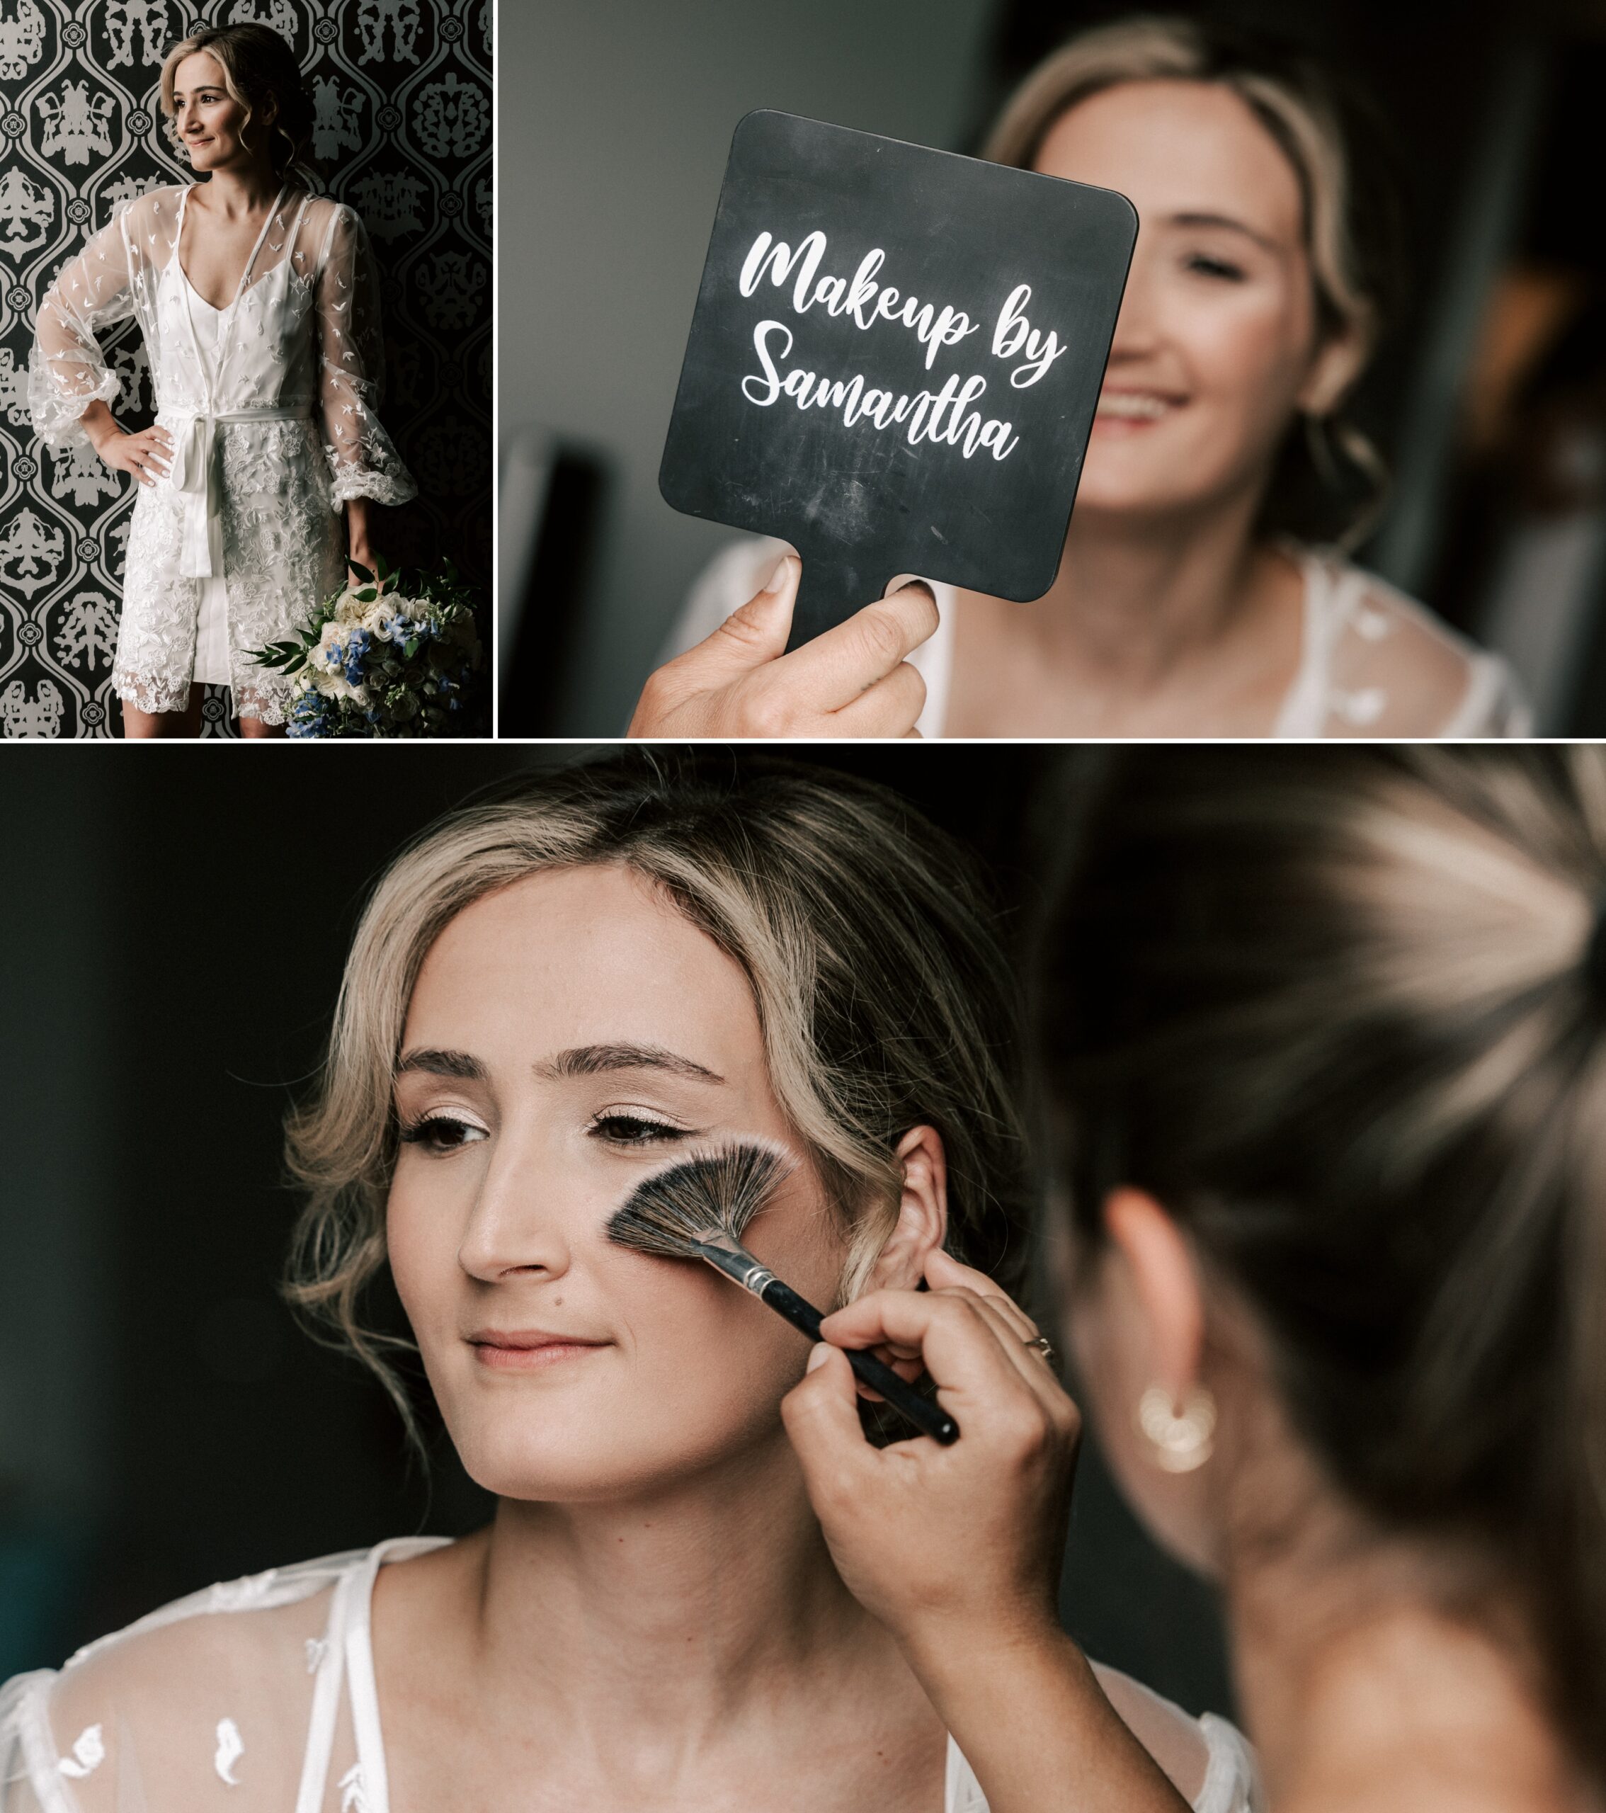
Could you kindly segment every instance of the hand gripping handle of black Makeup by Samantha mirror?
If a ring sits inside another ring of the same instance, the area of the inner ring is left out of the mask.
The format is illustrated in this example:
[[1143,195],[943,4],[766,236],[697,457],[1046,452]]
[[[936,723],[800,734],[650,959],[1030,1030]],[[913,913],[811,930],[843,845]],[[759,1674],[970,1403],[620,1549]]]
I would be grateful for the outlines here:
[[787,654],[803,566],[769,586],[642,687],[631,736],[919,736],[926,682],[905,660],[937,629],[919,580]]

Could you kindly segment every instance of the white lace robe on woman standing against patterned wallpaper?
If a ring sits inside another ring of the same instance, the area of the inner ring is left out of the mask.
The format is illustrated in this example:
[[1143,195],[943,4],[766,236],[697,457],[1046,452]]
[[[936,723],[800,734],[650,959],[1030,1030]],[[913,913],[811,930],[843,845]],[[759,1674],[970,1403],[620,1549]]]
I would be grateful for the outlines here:
[[286,187],[208,361],[192,319],[208,305],[178,259],[190,194],[121,203],[63,267],[40,305],[29,402],[47,446],[83,439],[83,412],[120,390],[96,334],[138,319],[176,457],[134,504],[116,691],[140,711],[185,707],[201,593],[225,580],[234,709],[279,723],[290,684],[248,653],[341,584],[348,499],[402,504],[417,486],[375,415],[379,286],[357,214]]

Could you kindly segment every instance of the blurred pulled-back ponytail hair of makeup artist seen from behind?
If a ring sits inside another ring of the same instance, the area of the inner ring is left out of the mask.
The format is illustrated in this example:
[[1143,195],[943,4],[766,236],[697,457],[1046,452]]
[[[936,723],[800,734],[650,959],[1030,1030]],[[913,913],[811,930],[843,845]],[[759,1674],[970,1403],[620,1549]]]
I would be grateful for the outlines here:
[[1164,1204],[1325,1478],[1521,1595],[1606,1782],[1606,751],[1102,767],[1037,957],[1079,1231]]

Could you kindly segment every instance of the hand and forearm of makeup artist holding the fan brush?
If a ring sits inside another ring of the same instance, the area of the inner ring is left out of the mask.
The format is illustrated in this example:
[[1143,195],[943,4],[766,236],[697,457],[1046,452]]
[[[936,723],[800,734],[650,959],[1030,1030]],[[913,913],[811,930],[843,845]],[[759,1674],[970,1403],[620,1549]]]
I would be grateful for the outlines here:
[[[1135,1701],[1117,1711],[1059,1623],[1082,1418],[992,1278],[934,1253],[926,1284],[827,1316],[834,1345],[781,1400],[837,1572],[897,1639],[993,1813],[1187,1813],[1137,1735],[1142,1690],[1115,1677]],[[923,1358],[959,1440],[872,1449],[843,1347]]]

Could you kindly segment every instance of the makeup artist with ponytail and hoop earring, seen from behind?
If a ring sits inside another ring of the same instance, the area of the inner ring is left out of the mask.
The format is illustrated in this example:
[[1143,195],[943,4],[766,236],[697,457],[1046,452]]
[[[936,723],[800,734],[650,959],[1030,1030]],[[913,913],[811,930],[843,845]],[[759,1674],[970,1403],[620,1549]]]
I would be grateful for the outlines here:
[[[1066,1327],[1222,1583],[1269,1804],[1599,1813],[1606,752],[1124,752],[1080,818],[1037,983]],[[1080,1659],[1015,1585],[1064,1398],[930,1276],[827,1334],[924,1351],[1013,1459],[886,1465],[823,1347],[788,1427],[993,1813],[1069,1813]]]

